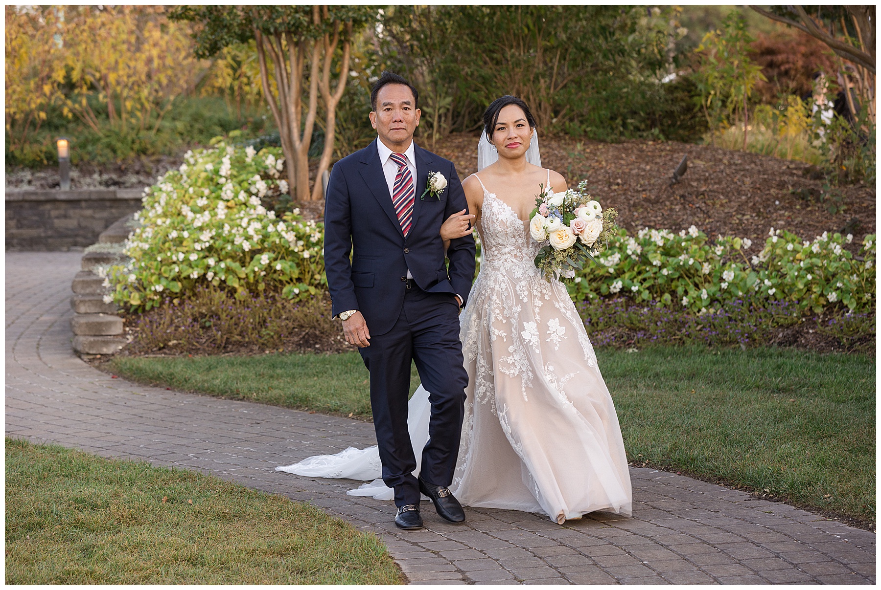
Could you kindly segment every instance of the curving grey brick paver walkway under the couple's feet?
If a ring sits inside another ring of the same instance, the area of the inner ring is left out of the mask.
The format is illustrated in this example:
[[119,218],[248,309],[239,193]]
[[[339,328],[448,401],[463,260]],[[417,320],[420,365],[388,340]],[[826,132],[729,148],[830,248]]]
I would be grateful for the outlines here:
[[210,472],[309,501],[375,531],[412,583],[874,584],[875,535],[689,477],[633,469],[633,518],[560,527],[542,516],[466,509],[452,525],[423,504],[426,529],[392,522],[391,502],[357,483],[277,465],[374,444],[351,419],[143,387],[70,351],[75,252],[6,254],[6,433],[103,456]]

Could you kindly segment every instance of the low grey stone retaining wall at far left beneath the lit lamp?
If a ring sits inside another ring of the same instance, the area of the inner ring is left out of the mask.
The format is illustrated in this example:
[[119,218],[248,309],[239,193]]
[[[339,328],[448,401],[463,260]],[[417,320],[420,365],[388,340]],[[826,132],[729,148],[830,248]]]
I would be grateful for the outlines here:
[[6,250],[82,248],[141,208],[144,189],[6,191]]

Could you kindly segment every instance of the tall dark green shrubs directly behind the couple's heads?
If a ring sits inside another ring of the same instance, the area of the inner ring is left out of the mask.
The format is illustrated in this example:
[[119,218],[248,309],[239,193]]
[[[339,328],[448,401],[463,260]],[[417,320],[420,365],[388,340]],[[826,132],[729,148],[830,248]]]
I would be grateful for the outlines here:
[[440,135],[478,128],[492,100],[515,94],[540,133],[683,140],[704,122],[690,81],[660,83],[679,61],[668,54],[685,33],[676,19],[670,7],[397,5],[378,41],[384,65],[422,93],[423,126]]

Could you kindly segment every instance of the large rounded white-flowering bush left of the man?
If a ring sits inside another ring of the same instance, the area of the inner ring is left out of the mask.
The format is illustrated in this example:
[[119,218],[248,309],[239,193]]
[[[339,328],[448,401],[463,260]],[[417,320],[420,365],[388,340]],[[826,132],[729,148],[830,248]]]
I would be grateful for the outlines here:
[[180,169],[144,190],[141,227],[124,244],[130,261],[107,273],[115,302],[149,310],[199,284],[223,283],[240,297],[280,288],[291,299],[326,288],[322,223],[296,209],[278,219],[261,203],[286,192],[284,164],[278,148],[218,142],[188,151]]

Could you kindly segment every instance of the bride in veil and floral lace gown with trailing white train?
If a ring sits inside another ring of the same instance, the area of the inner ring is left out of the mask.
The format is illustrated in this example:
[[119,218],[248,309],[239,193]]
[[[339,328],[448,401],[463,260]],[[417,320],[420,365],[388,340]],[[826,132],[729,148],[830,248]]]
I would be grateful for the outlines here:
[[[533,262],[538,244],[529,236],[528,215],[538,185],[566,189],[558,173],[539,167],[534,129],[519,98],[494,101],[478,148],[484,178],[475,174],[463,182],[477,214],[483,259],[460,316],[469,385],[449,489],[463,506],[544,513],[560,524],[597,510],[630,516],[624,441],[593,346],[566,286],[545,280]],[[441,234],[467,226],[456,223],[451,217]],[[428,392],[419,386],[408,419],[417,462],[430,410]],[[376,447],[350,447],[276,469],[373,480],[347,493],[394,497],[380,479]],[[418,470],[417,463],[414,475]]]

